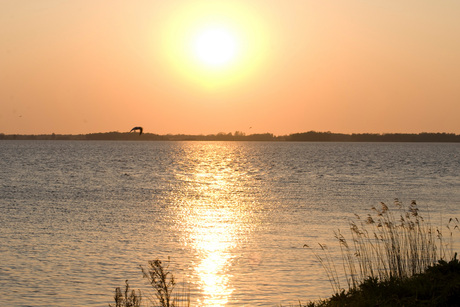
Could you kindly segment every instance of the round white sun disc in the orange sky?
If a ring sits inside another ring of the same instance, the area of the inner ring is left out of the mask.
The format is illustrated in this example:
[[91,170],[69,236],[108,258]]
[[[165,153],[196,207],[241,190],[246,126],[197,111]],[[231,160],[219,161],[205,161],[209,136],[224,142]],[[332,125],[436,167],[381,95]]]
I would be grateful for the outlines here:
[[205,66],[219,68],[231,64],[238,55],[236,36],[224,27],[200,30],[193,39],[193,53]]

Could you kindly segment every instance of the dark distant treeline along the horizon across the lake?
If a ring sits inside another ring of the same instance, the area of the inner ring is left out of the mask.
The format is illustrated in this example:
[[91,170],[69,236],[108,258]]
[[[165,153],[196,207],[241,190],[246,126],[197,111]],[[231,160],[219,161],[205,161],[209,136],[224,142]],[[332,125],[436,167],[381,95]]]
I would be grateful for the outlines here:
[[208,135],[167,134],[128,132],[100,132],[89,134],[39,134],[20,135],[0,133],[0,140],[113,140],[113,141],[287,141],[287,142],[460,142],[460,135],[454,133],[332,133],[309,131],[275,136],[272,133],[248,134],[220,132]]

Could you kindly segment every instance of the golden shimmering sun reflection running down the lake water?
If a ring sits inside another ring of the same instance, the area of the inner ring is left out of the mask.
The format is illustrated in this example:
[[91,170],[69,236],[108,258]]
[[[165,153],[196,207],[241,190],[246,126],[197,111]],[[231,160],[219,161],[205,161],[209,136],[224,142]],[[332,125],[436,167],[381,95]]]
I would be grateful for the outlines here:
[[198,305],[225,306],[234,291],[229,272],[234,251],[256,225],[253,204],[239,199],[240,179],[247,175],[235,169],[234,159],[241,156],[231,146],[210,143],[205,151],[190,154],[187,160],[193,170],[178,175],[186,192],[178,204],[177,223],[184,244],[196,256]]

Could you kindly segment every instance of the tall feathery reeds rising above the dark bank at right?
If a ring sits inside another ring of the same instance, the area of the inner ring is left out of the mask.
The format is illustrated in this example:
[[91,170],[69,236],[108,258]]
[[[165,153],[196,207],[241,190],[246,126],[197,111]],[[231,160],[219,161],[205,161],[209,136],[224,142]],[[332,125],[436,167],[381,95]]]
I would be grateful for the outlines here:
[[[356,215],[350,222],[350,236],[345,237],[340,230],[334,233],[348,288],[355,289],[369,278],[387,281],[411,277],[425,272],[439,259],[452,257],[452,231],[458,229],[458,220],[450,219],[447,228],[448,242],[441,229],[434,228],[429,219],[419,214],[415,201],[406,210],[395,200],[391,210],[381,203],[380,208],[373,207],[365,219]],[[307,244],[304,246],[312,250],[322,264],[333,291],[344,291],[327,247],[319,244],[318,251]]]

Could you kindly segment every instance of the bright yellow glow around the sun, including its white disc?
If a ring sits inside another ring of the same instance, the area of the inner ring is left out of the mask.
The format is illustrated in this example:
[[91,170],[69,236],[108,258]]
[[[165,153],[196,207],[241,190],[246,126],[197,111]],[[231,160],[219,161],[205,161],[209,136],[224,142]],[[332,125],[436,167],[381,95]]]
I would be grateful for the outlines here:
[[250,7],[189,3],[179,11],[171,7],[174,13],[162,27],[164,63],[173,73],[211,89],[243,82],[262,67],[269,32]]

